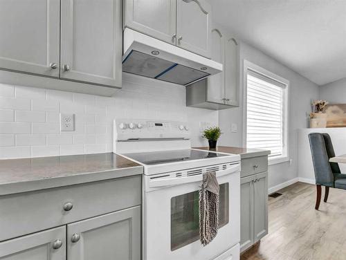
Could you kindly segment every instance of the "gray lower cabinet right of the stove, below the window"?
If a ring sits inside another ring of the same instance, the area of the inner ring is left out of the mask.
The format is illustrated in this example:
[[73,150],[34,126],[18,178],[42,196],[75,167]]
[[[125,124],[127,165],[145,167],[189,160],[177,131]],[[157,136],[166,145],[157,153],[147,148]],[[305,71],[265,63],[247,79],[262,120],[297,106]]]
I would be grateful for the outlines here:
[[[267,156],[262,156],[267,158]],[[247,158],[258,161],[258,158]],[[263,161],[260,158],[260,161]],[[253,174],[241,173],[240,178],[240,251],[248,249],[268,234],[268,172],[255,174],[260,165],[255,164]],[[267,163],[265,166],[267,167]]]

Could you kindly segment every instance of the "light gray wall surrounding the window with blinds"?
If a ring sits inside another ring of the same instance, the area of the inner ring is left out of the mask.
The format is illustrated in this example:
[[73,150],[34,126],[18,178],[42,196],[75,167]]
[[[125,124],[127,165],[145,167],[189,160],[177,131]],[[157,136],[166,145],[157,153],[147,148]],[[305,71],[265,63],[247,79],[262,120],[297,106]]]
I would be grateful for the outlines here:
[[[242,146],[243,145],[243,62],[244,59],[261,66],[272,73],[289,80],[289,158],[292,164],[280,163],[271,165],[268,169],[269,187],[275,187],[285,183],[288,180],[298,177],[298,141],[297,132],[300,128],[308,126],[307,112],[311,111],[311,99],[318,99],[318,86],[313,82],[295,73],[290,68],[280,64],[275,59],[262,53],[260,50],[253,48],[242,42],[239,49],[239,66],[240,66],[240,106],[236,109],[227,109],[219,111],[219,126],[224,131],[221,136],[221,145]],[[230,132],[230,125],[238,125],[237,133]]]

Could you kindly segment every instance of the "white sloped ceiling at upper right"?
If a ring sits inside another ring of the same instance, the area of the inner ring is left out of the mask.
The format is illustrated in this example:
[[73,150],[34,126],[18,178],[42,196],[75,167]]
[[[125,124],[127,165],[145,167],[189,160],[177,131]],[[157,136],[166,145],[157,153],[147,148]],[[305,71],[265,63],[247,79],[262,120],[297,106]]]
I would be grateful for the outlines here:
[[346,0],[210,0],[213,19],[318,85],[346,77]]

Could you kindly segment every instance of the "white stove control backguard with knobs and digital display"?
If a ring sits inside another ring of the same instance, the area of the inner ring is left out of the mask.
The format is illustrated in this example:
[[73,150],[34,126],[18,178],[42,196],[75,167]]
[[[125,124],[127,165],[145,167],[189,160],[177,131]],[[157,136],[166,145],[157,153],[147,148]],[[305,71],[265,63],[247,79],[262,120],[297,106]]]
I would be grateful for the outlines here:
[[190,138],[186,122],[167,120],[117,119],[114,121],[116,140]]

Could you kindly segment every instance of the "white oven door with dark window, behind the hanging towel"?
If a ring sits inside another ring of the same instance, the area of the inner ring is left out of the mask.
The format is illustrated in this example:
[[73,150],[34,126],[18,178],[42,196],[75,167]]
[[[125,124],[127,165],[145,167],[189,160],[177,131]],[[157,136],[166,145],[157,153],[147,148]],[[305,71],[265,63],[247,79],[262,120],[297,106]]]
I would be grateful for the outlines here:
[[210,260],[239,243],[240,165],[222,166],[216,171],[220,185],[219,231],[205,247],[199,241],[201,174],[145,176],[144,259]]

